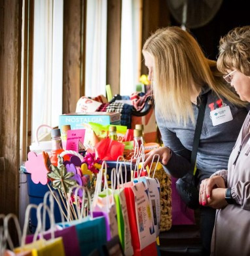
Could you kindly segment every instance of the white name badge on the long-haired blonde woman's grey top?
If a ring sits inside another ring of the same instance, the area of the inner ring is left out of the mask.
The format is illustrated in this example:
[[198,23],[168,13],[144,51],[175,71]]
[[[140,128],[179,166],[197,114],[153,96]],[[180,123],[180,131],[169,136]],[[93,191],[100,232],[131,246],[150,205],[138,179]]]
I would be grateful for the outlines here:
[[210,112],[210,117],[213,122],[213,126],[224,124],[232,120],[232,113],[229,106],[220,107]]

